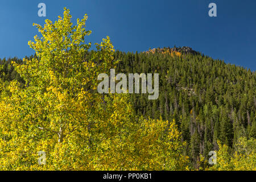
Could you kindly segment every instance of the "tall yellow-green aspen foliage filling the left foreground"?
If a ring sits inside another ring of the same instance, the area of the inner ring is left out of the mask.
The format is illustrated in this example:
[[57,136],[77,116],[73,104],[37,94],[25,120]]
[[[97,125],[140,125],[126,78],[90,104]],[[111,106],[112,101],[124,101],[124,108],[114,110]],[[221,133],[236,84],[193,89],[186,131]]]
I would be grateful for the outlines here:
[[[187,169],[175,121],[138,117],[129,94],[97,93],[97,76],[115,67],[110,38],[85,44],[85,15],[44,26],[28,44],[31,60],[14,64],[25,81],[0,95],[0,170]],[[46,153],[46,165],[38,152]]]

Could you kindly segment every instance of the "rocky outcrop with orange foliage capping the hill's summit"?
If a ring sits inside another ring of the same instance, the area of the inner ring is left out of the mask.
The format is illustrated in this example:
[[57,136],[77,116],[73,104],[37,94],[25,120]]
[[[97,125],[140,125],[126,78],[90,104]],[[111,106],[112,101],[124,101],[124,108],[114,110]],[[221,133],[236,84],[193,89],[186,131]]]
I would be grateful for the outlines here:
[[150,49],[148,51],[146,51],[146,53],[164,53],[166,51],[169,51],[169,52],[180,52],[180,53],[183,53],[183,54],[188,54],[188,53],[192,53],[194,55],[197,55],[197,54],[200,54],[199,52],[197,51],[194,51],[191,47],[186,47],[186,46],[183,46],[183,47],[164,47],[164,48],[154,48],[154,49]]

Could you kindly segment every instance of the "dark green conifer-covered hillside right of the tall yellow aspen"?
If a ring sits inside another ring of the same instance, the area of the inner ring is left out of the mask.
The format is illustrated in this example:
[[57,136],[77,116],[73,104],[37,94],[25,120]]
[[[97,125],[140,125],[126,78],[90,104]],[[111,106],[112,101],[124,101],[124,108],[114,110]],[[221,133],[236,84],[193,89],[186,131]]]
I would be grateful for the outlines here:
[[118,72],[159,73],[158,100],[131,94],[131,102],[138,115],[175,119],[195,167],[200,154],[208,158],[209,151],[218,150],[217,140],[234,149],[238,138],[256,138],[255,72],[186,47],[117,51],[115,59],[121,60]]

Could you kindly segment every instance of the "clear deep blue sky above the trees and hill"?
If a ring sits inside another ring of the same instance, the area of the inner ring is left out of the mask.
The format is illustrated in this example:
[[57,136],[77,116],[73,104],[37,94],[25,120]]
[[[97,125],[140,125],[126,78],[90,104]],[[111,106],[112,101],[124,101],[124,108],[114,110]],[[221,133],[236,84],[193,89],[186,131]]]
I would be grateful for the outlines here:
[[[40,2],[46,3],[46,17],[38,16]],[[217,5],[217,17],[208,16],[211,2]],[[74,22],[88,14],[88,42],[101,42],[108,35],[115,49],[125,52],[189,46],[256,70],[255,0],[1,0],[0,58],[34,54],[27,45],[38,34],[32,23],[57,20],[64,7]]]

